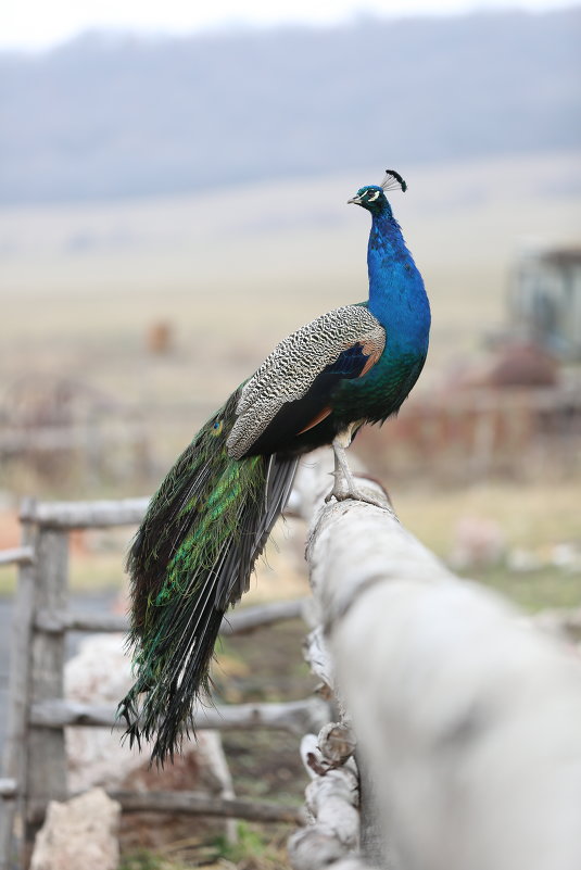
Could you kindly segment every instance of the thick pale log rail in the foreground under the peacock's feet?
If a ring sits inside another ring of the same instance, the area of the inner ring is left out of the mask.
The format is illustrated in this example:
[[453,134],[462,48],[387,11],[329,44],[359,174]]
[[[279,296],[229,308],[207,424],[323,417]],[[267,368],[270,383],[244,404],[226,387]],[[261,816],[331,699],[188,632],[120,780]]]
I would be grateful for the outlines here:
[[382,866],[578,870],[579,657],[451,575],[387,508],[321,506],[308,560]]

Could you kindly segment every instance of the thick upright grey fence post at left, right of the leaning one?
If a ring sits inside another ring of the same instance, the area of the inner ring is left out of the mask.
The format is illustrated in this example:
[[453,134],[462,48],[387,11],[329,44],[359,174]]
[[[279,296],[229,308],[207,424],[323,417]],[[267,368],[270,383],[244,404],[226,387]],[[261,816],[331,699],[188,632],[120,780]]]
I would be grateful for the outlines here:
[[[36,550],[37,568],[34,614],[42,609],[55,616],[66,610],[68,533],[40,527]],[[65,632],[33,630],[30,644],[30,705],[64,698]],[[26,805],[66,798],[64,729],[28,723],[28,759],[24,771]],[[38,824],[25,819],[25,841],[34,843]],[[28,849],[25,848],[24,852]]]

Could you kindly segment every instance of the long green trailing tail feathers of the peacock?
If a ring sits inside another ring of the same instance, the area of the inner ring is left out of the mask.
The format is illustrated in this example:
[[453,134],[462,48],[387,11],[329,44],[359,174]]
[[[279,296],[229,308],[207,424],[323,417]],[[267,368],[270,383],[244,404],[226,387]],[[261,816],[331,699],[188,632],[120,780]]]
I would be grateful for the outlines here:
[[285,507],[296,459],[231,459],[239,391],[198,432],[153,496],[129,552],[135,684],[121,702],[132,744],[154,740],[163,764],[209,690],[223,616],[247,591]]

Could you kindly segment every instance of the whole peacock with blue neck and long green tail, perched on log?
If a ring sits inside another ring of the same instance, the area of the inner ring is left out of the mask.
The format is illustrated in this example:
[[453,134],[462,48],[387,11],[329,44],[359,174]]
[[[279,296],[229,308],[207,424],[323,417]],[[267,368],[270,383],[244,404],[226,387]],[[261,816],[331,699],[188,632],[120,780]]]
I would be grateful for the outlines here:
[[[371,214],[369,299],[317,317],[283,341],[194,436],[152,497],[131,544],[129,646],[135,683],[118,707],[132,744],[173,758],[207,696],[223,617],[289,497],[302,454],[334,451],[328,499],[363,499],[345,449],[395,414],[428,352],[430,306],[386,197],[386,171],[348,202]],[[372,497],[372,496],[371,496]]]

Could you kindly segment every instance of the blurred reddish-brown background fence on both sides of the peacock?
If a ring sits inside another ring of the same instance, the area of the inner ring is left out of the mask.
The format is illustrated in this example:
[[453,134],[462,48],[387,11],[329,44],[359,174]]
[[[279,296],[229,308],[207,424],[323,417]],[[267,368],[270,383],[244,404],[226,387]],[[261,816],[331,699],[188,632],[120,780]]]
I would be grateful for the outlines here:
[[[111,407],[96,406],[60,425],[2,426],[0,461],[24,461],[50,479],[80,474],[89,484],[102,479],[155,480],[172,456],[160,452],[176,436],[201,424],[214,408],[203,402]],[[12,419],[11,408],[4,408]],[[58,418],[58,417],[56,417]],[[34,417],[33,417],[34,419]],[[156,433],[164,420],[164,438]],[[540,475],[579,476],[581,386],[552,388],[471,388],[413,393],[397,421],[384,434],[368,427],[357,441],[381,476],[428,476],[447,482],[472,482],[502,475],[531,479]],[[153,450],[156,444],[157,449]],[[112,450],[114,446],[114,450]],[[123,462],[118,463],[119,453]],[[115,458],[116,457],[116,458]]]

